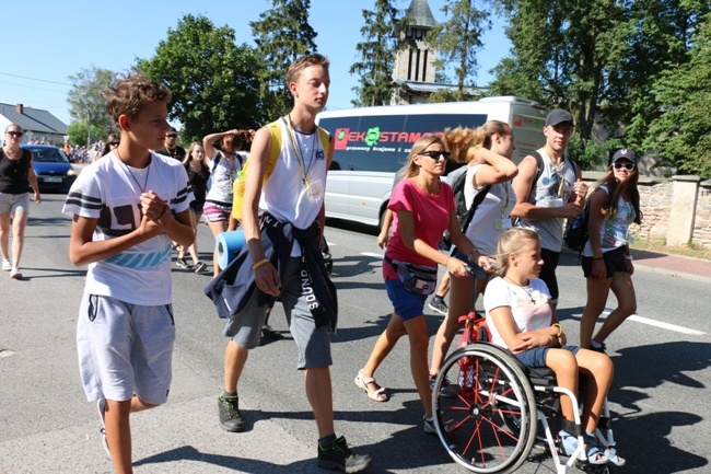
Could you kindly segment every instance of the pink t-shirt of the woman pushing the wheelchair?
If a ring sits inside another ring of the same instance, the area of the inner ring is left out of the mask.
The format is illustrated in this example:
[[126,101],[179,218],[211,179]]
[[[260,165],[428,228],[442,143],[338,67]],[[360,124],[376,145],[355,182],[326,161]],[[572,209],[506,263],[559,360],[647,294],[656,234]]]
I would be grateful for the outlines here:
[[[398,210],[406,210],[415,217],[415,235],[423,240],[432,248],[439,248],[444,230],[450,226],[450,212],[454,210],[454,194],[448,184],[440,183],[440,194],[431,196],[424,193],[411,180],[400,181],[393,189],[387,205],[394,213],[393,236],[387,241],[385,255],[388,257],[418,265],[436,265],[417,252],[409,250],[403,243],[400,235]],[[397,278],[392,265],[383,265],[385,279]]]

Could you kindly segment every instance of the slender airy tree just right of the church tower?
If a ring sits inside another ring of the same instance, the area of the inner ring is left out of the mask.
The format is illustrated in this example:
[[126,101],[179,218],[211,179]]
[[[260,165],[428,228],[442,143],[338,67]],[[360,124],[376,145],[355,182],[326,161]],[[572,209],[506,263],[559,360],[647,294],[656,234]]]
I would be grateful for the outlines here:
[[481,35],[491,28],[490,14],[486,10],[477,10],[473,0],[445,0],[442,12],[450,16],[428,32],[427,41],[440,56],[440,68],[448,62],[455,65],[457,89],[447,94],[453,94],[457,100],[467,100],[469,94],[466,89],[475,85]]

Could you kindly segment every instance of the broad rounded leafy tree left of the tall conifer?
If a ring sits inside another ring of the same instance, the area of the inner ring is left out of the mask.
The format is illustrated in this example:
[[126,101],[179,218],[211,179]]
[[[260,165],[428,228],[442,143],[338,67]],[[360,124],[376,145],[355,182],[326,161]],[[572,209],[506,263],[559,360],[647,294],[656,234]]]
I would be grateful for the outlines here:
[[233,28],[191,14],[168,28],[155,56],[138,61],[139,69],[173,92],[168,117],[183,124],[187,140],[264,123],[259,65],[253,48],[235,44]]

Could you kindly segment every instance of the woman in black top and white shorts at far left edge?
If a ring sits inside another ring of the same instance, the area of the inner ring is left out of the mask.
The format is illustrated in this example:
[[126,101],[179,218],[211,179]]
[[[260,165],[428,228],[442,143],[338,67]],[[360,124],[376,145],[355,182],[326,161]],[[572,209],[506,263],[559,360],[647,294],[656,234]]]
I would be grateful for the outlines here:
[[[30,193],[33,200],[42,203],[37,187],[37,175],[32,167],[32,152],[20,148],[24,130],[16,124],[5,129],[5,140],[0,151],[0,252],[2,270],[10,271],[10,278],[20,279],[20,255],[25,243],[25,227],[30,216]],[[12,262],[10,261],[10,219],[12,219]]]

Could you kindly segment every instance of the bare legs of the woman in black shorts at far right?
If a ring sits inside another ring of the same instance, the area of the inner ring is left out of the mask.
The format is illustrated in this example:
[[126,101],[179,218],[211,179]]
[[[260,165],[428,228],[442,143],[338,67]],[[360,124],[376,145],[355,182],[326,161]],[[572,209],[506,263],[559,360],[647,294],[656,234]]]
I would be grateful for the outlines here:
[[[605,303],[610,289],[617,298],[617,308],[609,313],[597,334],[593,337],[595,323],[605,311]],[[636,311],[637,296],[630,274],[615,271],[613,278],[587,278],[587,304],[585,304],[585,311],[580,321],[580,347],[590,348],[592,339],[602,344],[613,331],[619,327]]]

